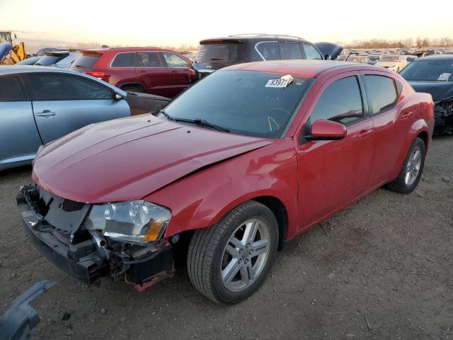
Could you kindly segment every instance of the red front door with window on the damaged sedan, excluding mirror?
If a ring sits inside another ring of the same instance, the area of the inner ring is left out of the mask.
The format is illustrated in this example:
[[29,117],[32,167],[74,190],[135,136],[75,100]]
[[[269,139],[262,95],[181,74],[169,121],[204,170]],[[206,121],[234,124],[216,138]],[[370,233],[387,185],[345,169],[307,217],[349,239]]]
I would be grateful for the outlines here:
[[[297,147],[300,225],[309,227],[369,190],[374,128],[358,72],[328,79],[309,108]],[[309,141],[311,123],[334,120],[347,128],[342,140]]]

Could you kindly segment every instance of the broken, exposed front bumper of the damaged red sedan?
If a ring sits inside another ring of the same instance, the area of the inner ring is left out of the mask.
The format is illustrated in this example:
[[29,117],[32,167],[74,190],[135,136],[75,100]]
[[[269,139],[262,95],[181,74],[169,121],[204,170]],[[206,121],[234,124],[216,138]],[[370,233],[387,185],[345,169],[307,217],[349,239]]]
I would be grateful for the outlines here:
[[[125,278],[137,290],[144,290],[173,276],[172,245],[168,241],[137,246],[112,242],[93,231],[81,231],[74,237],[74,232],[69,234],[64,228],[50,224],[45,216],[49,213],[42,211],[40,199],[35,186],[23,186],[16,197],[27,237],[42,255],[71,276],[88,285],[98,283],[104,276],[114,280]],[[55,200],[58,199],[62,200],[63,206],[76,205],[55,197]],[[84,214],[80,217],[83,219],[89,207],[78,204],[81,205],[79,211]],[[77,218],[72,220],[74,222]]]

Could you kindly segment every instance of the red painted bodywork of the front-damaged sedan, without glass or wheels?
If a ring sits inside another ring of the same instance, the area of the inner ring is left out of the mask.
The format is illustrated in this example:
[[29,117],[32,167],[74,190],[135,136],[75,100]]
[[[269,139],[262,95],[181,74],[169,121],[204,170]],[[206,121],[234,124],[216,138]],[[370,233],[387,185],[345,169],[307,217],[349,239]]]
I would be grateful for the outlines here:
[[[275,61],[228,69],[316,77],[285,138],[268,140],[193,128],[150,115],[73,132],[35,159],[33,180],[88,203],[144,198],[171,209],[166,237],[210,227],[231,208],[273,196],[288,216],[285,239],[396,178],[414,138],[430,145],[429,94],[394,72],[363,64]],[[385,74],[403,84],[396,105],[347,127],[342,140],[299,140],[323,90],[336,79]],[[188,133],[190,131],[190,133]]]

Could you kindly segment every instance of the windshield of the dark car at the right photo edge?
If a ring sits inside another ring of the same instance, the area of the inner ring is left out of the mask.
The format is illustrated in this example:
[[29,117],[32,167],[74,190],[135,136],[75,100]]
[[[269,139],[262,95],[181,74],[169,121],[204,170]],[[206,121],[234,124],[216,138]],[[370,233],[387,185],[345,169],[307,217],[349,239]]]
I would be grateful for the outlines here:
[[453,81],[453,59],[417,60],[404,67],[400,74],[406,80]]

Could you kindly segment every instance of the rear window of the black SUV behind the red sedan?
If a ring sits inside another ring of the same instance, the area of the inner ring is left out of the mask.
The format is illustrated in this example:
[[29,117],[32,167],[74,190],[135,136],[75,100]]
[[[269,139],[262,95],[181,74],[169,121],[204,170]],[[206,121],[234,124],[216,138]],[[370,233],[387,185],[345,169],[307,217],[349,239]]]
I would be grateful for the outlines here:
[[195,62],[224,64],[246,62],[246,45],[238,42],[200,45]]

